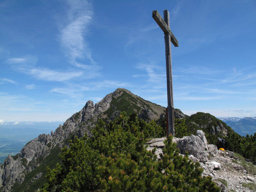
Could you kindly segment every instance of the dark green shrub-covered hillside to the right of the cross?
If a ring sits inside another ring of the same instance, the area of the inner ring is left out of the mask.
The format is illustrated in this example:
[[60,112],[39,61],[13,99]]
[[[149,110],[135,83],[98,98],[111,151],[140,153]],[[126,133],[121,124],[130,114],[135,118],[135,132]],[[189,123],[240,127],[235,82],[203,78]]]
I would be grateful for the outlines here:
[[[226,123],[217,119],[211,114],[198,112],[184,119],[175,119],[176,126],[182,125],[176,129],[176,137],[196,135],[196,130],[202,130],[205,133],[209,144],[217,144],[218,138],[223,138],[228,142],[228,148],[233,152],[237,152],[244,158],[249,159],[256,164],[256,133],[254,135],[240,136]],[[223,125],[224,129],[216,134],[212,134],[212,126]]]

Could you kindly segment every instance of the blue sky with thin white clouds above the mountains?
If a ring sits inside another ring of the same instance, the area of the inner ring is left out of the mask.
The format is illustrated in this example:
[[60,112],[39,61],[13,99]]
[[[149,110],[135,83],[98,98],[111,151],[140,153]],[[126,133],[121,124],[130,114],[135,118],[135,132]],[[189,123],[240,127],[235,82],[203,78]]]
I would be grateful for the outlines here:
[[0,123],[64,121],[118,87],[166,106],[165,9],[174,107],[256,116],[255,0],[1,0]]

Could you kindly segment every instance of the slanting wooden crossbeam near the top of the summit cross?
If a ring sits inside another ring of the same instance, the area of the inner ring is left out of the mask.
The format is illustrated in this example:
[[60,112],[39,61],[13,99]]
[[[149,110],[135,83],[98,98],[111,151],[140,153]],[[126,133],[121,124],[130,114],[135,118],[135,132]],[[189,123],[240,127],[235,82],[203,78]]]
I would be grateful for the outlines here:
[[[161,15],[157,10],[152,11],[152,17],[156,21],[156,23],[160,26],[160,28],[163,30],[164,34],[169,33],[170,28],[168,27],[168,24],[163,20]],[[171,36],[171,42],[174,44],[175,47],[179,46],[179,42],[174,36],[174,34],[170,31],[170,36]]]

